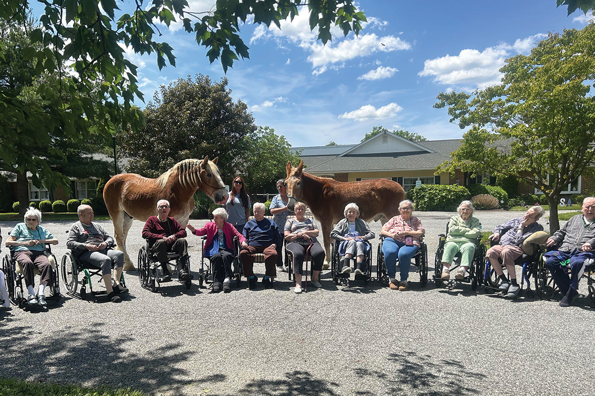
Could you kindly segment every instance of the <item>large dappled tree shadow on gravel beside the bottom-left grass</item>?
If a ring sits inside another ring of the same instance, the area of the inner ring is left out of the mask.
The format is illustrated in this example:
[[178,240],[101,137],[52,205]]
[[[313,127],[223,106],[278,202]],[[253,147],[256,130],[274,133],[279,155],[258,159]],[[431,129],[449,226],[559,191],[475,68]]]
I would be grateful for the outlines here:
[[[150,393],[163,389],[183,393],[187,385],[221,382],[225,375],[196,378],[180,368],[192,356],[180,344],[155,346],[149,351],[131,351],[134,335],[114,338],[102,322],[89,322],[84,329],[42,332],[30,326],[0,322],[2,376],[43,380],[57,384],[130,387]],[[9,328],[10,325],[10,328]],[[146,337],[145,333],[140,337]]]

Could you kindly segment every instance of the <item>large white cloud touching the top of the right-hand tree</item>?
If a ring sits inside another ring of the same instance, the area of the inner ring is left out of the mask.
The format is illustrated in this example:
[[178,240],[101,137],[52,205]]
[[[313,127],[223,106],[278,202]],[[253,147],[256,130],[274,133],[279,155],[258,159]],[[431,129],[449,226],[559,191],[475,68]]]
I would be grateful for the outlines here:
[[513,45],[501,43],[487,47],[482,52],[477,49],[464,49],[459,55],[427,59],[424,69],[418,75],[434,76],[437,83],[457,85],[465,90],[485,88],[500,83],[502,74],[499,69],[505,64],[506,58],[516,53],[529,53],[544,37],[546,34],[540,33],[518,39]]

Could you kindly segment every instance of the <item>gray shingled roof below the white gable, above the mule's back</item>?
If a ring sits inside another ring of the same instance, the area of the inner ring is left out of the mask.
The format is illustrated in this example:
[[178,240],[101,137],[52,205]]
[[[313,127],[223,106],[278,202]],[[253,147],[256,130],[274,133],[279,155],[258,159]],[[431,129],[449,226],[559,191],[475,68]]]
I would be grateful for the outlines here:
[[300,156],[308,173],[375,172],[383,170],[434,169],[450,159],[461,139],[417,142],[435,153],[382,153],[378,156]]

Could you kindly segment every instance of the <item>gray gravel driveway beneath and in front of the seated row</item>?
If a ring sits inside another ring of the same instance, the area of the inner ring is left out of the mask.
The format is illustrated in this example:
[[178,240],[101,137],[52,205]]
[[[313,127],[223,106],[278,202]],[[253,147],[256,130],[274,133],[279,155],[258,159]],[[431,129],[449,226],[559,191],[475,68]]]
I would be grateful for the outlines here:
[[[453,213],[415,214],[427,229],[431,270],[437,234]],[[484,230],[521,215],[477,213]],[[60,239],[58,260],[69,225],[43,222]],[[142,226],[134,221],[130,230],[133,258]],[[6,237],[14,223],[0,227]],[[380,223],[372,230],[378,235]],[[188,240],[196,274],[200,239]],[[421,289],[417,274],[410,279],[405,293],[377,282],[337,287],[328,271],[321,290],[300,295],[287,274],[272,290],[243,281],[229,294],[209,294],[195,281],[190,290],[172,282],[151,293],[128,273],[120,304],[67,296],[46,312],[0,308],[0,376],[158,395],[593,394],[595,313],[584,297],[563,309],[483,287],[474,293],[468,284]]]

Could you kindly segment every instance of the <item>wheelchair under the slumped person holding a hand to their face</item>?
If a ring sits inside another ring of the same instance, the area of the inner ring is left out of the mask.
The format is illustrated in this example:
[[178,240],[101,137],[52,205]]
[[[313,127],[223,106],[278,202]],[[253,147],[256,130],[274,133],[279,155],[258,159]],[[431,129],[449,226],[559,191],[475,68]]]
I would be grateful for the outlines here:
[[[506,233],[505,230],[503,230],[503,232],[500,233],[500,236],[502,237],[502,235]],[[490,243],[490,247],[497,245],[497,242],[491,242]],[[538,262],[541,259],[541,256],[543,256],[543,249],[540,249],[536,246],[536,248],[534,249],[534,253],[533,255],[528,255],[523,253],[521,256],[519,256],[518,258],[515,259],[515,267],[518,265],[519,267],[522,267],[522,271],[521,271],[521,284],[519,285],[521,287],[521,292],[519,292],[519,296],[521,296],[522,294],[525,294],[527,297],[529,297],[530,299],[533,299],[534,297],[536,297],[536,294],[538,295],[539,291],[538,291],[538,287],[537,287],[537,271],[538,271]],[[498,261],[500,262],[500,264],[502,265],[502,259],[498,259]],[[506,267],[504,265],[502,265],[502,270],[506,271]],[[510,277],[507,275],[508,279],[510,280]],[[535,290],[531,289],[531,278],[534,278],[534,287]],[[524,287],[525,282],[527,282],[527,287]],[[486,290],[486,293],[493,293],[493,292],[500,292],[500,289],[498,288],[498,284],[499,284],[499,279],[498,279],[498,275],[496,274],[496,271],[494,271],[494,268],[491,267],[491,263],[490,260],[488,260],[486,258],[486,267],[484,269],[484,277],[483,277],[483,284],[484,284],[484,290]],[[506,294],[505,292],[503,292],[503,294]]]

